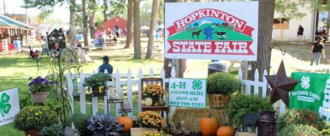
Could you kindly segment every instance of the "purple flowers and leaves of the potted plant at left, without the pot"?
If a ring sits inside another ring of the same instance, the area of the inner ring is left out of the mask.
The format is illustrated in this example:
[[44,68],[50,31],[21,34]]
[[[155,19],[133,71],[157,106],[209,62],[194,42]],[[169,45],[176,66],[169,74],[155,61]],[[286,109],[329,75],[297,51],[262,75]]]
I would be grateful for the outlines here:
[[47,77],[36,77],[35,79],[30,78],[29,90],[31,94],[36,92],[48,92],[53,89],[54,81],[50,81]]

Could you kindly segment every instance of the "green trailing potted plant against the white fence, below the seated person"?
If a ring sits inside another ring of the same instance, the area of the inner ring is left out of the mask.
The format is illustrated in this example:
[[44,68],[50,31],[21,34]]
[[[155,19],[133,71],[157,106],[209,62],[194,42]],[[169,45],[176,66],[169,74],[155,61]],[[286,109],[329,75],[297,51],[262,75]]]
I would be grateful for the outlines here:
[[85,79],[84,87],[91,88],[94,96],[104,96],[108,89],[107,81],[111,79],[110,74],[99,72]]

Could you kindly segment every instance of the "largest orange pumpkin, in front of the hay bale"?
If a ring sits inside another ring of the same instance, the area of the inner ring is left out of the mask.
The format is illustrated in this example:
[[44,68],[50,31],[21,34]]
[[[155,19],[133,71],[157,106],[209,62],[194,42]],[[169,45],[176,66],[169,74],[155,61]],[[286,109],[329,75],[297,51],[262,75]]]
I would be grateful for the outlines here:
[[217,135],[217,130],[219,128],[217,118],[209,117],[202,118],[200,122],[201,134],[203,136],[214,136]]

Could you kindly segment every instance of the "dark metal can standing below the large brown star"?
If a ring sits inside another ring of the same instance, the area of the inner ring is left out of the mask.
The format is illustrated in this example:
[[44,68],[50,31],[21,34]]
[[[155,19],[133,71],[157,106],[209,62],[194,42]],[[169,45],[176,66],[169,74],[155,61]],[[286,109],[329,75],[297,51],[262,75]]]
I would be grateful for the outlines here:
[[276,111],[263,111],[259,118],[258,135],[275,136],[276,132]]

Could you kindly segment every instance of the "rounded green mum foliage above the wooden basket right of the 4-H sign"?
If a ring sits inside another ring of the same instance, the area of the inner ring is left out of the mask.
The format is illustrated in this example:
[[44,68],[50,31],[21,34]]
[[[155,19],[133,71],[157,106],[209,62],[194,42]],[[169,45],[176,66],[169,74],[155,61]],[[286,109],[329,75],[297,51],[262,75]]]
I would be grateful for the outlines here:
[[208,76],[208,94],[232,94],[242,89],[242,83],[228,72],[215,72]]

